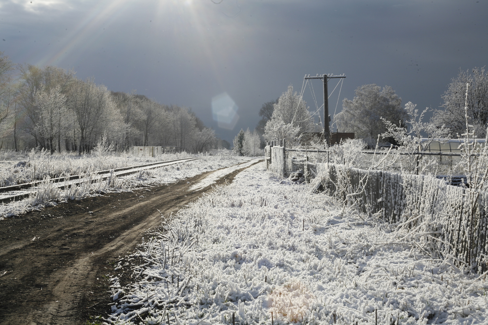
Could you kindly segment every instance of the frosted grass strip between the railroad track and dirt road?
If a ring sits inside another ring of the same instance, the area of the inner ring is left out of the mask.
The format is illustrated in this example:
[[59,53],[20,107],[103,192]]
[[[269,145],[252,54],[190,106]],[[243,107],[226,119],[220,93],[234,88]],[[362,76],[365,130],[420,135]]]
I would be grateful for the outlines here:
[[[199,160],[176,163],[156,169],[142,170],[139,174],[123,177],[111,177],[102,180],[101,175],[88,173],[84,182],[71,186],[66,190],[57,188],[58,183],[49,180],[38,186],[35,192],[21,201],[0,204],[0,220],[5,217],[20,215],[28,211],[39,210],[44,206],[52,206],[68,200],[80,200],[90,196],[100,196],[110,192],[132,191],[138,186],[155,186],[159,184],[175,183],[188,177],[202,174],[206,171],[228,167],[249,161],[248,157],[236,157],[231,154],[219,154]],[[94,181],[92,183],[92,181]],[[62,184],[62,183],[61,183]]]

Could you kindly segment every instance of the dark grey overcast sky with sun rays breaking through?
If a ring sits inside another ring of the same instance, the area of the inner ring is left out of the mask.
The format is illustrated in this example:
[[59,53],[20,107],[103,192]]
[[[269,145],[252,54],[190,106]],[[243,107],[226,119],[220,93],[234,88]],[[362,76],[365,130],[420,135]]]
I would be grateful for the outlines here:
[[[487,14],[487,0],[0,0],[0,51],[191,107],[230,142],[305,74],[346,74],[337,112],[368,83],[436,108],[460,68],[487,64]],[[322,84],[312,86],[320,106]],[[233,130],[212,119],[224,92],[239,107]]]

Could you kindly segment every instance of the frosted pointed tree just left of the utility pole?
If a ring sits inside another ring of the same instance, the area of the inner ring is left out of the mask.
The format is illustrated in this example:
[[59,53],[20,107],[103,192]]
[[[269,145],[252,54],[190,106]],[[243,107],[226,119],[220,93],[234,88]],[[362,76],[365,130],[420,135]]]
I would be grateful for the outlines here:
[[264,129],[266,140],[286,139],[290,145],[296,145],[304,132],[313,132],[312,116],[306,102],[293,92],[292,85],[273,107],[273,114]]

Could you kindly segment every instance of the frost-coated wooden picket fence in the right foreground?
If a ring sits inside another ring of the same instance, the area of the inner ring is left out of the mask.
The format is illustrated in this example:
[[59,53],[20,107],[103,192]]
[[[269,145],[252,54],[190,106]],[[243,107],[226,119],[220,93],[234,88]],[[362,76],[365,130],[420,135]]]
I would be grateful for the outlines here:
[[398,229],[411,229],[424,252],[480,273],[488,270],[487,193],[480,195],[470,215],[467,189],[434,177],[338,164],[313,167],[327,169],[323,184],[329,195]]

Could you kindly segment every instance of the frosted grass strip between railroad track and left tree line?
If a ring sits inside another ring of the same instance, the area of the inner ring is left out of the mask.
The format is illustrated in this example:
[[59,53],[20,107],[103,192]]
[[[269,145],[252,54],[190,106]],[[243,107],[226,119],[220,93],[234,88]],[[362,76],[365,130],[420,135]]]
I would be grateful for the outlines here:
[[[126,152],[112,152],[105,155],[81,156],[72,152],[51,155],[47,150],[25,152],[0,151],[0,186],[29,183],[43,180],[46,176],[55,178],[64,175],[81,175],[101,170],[156,163],[180,158],[196,157],[186,152],[166,153],[157,157],[132,156]],[[25,166],[17,167],[20,161]]]

